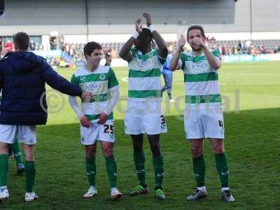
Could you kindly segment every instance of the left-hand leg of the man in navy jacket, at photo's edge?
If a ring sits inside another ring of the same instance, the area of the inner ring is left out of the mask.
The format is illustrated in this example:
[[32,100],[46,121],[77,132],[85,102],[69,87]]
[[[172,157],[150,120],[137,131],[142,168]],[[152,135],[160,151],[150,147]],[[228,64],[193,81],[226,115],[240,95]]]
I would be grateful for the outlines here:
[[7,188],[8,175],[8,144],[3,143],[0,139],[0,202],[8,199]]

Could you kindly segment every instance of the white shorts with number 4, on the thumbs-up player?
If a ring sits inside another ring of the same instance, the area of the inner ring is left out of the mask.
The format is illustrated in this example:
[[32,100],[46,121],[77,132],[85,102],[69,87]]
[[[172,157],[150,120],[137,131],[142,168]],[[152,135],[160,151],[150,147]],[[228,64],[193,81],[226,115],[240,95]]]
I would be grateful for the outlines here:
[[225,138],[222,109],[185,109],[186,139]]

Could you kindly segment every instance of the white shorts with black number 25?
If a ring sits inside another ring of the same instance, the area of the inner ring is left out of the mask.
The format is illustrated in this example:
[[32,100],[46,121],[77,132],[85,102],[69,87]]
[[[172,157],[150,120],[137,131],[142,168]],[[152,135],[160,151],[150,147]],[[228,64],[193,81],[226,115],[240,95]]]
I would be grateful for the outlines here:
[[80,125],[80,144],[92,145],[96,141],[115,142],[113,120],[106,120],[104,125],[99,123],[91,123],[90,127]]

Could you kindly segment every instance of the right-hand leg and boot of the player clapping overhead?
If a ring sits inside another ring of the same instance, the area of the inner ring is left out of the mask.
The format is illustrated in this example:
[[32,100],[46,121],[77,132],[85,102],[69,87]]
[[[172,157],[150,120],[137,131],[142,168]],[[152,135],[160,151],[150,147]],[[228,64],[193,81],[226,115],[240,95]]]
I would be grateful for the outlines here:
[[153,167],[155,174],[155,197],[164,200],[165,194],[162,189],[164,176],[163,157],[160,151],[160,134],[148,135],[151,152],[153,153]]

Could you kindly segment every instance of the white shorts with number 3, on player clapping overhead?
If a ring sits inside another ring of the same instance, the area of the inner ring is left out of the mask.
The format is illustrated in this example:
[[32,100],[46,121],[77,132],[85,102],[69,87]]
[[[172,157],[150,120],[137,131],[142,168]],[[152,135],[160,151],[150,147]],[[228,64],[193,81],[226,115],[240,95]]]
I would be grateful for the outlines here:
[[127,102],[126,134],[162,134],[167,132],[161,101]]

